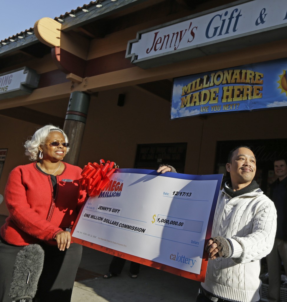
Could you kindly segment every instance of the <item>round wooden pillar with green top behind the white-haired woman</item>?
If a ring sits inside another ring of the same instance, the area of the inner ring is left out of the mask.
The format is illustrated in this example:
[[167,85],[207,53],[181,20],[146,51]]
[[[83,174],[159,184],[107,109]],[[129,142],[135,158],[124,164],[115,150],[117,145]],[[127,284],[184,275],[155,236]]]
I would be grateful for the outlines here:
[[78,164],[89,104],[90,95],[80,91],[71,93],[63,130],[70,143],[64,161],[72,165]]

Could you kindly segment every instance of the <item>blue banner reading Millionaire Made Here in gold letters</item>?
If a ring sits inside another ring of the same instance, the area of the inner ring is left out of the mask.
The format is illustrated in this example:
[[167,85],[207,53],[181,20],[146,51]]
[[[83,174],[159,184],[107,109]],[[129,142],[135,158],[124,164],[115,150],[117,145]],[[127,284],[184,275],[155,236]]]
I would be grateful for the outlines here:
[[171,119],[287,106],[287,59],[175,78]]

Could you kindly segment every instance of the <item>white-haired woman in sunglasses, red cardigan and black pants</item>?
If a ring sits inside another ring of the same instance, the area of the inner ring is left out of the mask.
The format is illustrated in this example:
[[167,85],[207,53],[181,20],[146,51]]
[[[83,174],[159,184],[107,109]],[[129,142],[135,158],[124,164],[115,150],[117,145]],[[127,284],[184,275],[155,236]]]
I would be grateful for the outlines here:
[[33,162],[13,169],[5,188],[9,216],[0,232],[0,300],[11,302],[18,252],[38,243],[45,257],[33,302],[69,302],[82,254],[70,235],[86,197],[79,185],[82,169],[62,162],[68,137],[53,125],[38,129],[24,146]]

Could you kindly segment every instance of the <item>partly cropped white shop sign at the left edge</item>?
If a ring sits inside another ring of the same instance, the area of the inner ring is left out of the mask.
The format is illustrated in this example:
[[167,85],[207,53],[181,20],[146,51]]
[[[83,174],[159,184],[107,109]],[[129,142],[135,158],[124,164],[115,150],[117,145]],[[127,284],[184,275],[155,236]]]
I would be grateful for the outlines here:
[[0,100],[32,93],[39,79],[40,75],[28,67],[0,74]]

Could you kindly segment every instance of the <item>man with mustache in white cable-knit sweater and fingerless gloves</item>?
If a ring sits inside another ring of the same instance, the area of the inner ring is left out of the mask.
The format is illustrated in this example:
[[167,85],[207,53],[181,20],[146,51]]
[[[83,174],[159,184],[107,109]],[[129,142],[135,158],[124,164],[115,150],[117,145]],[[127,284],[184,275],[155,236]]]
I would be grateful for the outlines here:
[[[162,166],[158,172],[170,171]],[[197,302],[260,300],[260,259],[269,254],[276,233],[276,209],[253,181],[256,159],[249,147],[229,153],[230,181],[219,193],[212,226],[206,279]]]

